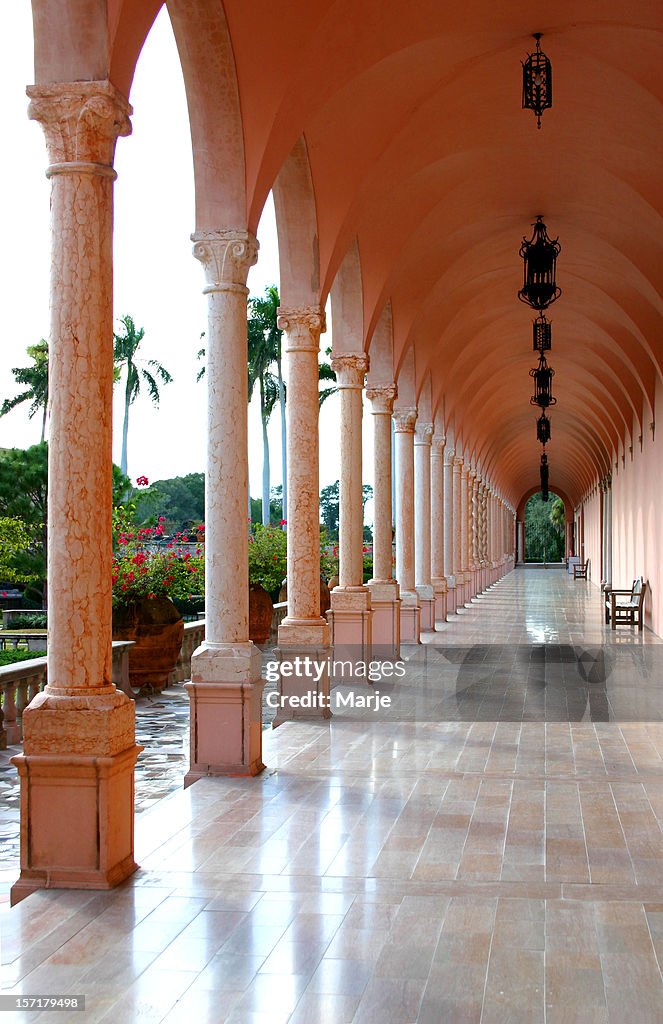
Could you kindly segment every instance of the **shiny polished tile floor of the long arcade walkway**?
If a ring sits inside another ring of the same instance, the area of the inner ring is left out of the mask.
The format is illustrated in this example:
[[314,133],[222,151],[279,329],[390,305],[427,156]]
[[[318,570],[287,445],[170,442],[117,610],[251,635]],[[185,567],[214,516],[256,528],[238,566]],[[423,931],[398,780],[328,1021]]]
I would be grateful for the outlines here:
[[425,639],[139,814],[121,889],[0,914],[3,994],[87,999],[7,1019],[663,1024],[663,644],[542,569]]

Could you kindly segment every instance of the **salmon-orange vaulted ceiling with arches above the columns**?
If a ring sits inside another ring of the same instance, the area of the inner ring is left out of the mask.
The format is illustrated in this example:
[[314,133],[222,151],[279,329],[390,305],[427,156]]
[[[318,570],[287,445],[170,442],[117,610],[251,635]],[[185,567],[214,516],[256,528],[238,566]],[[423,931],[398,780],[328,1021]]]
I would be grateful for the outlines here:
[[[106,61],[129,92],[160,4],[109,0],[99,20],[102,6],[36,5],[41,80],[66,80],[72,69],[103,77]],[[396,369],[413,347],[418,385],[430,374],[433,407],[513,504],[536,485],[540,453],[529,402],[533,317],[516,298],[517,253],[544,216],[562,244],[563,295],[549,310],[550,484],[576,501],[610,472],[654,420],[663,362],[663,5],[172,0],[168,8],[200,215],[227,216],[223,197],[210,198],[210,182],[225,184],[235,216],[243,207],[255,229],[303,136],[321,297],[357,240],[365,344],[390,301]],[[69,69],[53,55],[65,9],[79,38],[70,40]],[[521,109],[521,60],[534,32],[544,34],[554,76],[541,130]]]

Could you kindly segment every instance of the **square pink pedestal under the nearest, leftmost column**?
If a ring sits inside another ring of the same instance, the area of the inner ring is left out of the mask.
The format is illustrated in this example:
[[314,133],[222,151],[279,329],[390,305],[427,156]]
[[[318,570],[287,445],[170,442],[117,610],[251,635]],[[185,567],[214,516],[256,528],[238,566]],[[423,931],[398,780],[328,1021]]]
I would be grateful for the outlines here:
[[132,874],[133,771],[142,746],[109,757],[17,754],[20,876],[14,906],[37,889],[112,889]]

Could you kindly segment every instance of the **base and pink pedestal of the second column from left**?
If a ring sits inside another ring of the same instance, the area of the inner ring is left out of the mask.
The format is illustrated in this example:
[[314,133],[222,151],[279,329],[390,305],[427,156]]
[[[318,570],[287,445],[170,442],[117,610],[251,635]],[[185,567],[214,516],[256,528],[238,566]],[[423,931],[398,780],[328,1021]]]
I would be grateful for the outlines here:
[[208,646],[192,657],[191,765],[184,788],[210,775],[262,771],[262,656],[246,643]]

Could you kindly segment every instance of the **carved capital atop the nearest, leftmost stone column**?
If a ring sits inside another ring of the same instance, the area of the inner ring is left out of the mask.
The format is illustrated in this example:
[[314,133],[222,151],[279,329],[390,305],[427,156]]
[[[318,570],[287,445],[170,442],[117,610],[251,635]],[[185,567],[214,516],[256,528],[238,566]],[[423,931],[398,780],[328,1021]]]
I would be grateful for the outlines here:
[[113,160],[119,135],[131,134],[132,109],[108,81],[31,85],[28,117],[39,121],[51,166],[47,177],[63,173],[115,177]]

